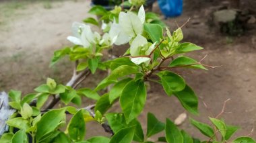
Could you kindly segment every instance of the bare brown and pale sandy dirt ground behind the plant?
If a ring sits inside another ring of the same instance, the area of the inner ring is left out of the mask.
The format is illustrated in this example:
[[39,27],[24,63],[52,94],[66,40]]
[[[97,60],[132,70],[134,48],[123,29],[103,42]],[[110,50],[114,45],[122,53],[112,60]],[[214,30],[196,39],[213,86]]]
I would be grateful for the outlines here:
[[[207,71],[179,71],[188,74],[185,79],[199,97],[200,115],[191,117],[208,122],[207,117],[216,116],[222,110],[223,102],[230,99],[225,110],[231,113],[224,113],[222,117],[228,124],[241,127],[237,136],[245,136],[256,124],[256,29],[245,32],[243,36],[223,36],[208,26],[209,11],[214,5],[218,3],[185,0],[183,15],[164,21],[174,30],[174,21],[181,25],[191,17],[183,28],[184,41],[205,49],[189,56],[199,60],[207,54],[205,64],[222,65]],[[34,87],[44,83],[46,77],[53,77],[61,83],[68,81],[71,62],[65,59],[49,68],[49,61],[54,50],[69,45],[66,37],[71,34],[71,23],[88,17],[88,9],[90,1],[87,0],[19,5],[0,1],[0,91],[19,89],[24,93],[32,92]],[[159,12],[157,3],[154,11]],[[94,87],[97,81],[100,79],[92,76],[85,84]],[[146,128],[148,111],[164,121],[166,117],[174,120],[184,109],[175,97],[166,96],[159,85],[151,84],[146,109],[139,117],[145,122],[143,128]],[[92,130],[94,127],[95,124],[88,125],[88,136],[98,132],[104,134],[102,128]],[[188,119],[181,128],[201,137]],[[253,137],[256,138],[256,133]]]

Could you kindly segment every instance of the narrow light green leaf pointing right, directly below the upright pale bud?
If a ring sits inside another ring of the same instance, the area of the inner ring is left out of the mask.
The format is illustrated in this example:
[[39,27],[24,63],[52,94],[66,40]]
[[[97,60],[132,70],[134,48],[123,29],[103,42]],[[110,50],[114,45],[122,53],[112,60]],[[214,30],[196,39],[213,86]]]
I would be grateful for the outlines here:
[[184,52],[191,52],[193,50],[201,50],[201,49],[203,48],[192,43],[182,43],[182,44],[179,44],[178,48],[175,50],[175,54],[181,54]]

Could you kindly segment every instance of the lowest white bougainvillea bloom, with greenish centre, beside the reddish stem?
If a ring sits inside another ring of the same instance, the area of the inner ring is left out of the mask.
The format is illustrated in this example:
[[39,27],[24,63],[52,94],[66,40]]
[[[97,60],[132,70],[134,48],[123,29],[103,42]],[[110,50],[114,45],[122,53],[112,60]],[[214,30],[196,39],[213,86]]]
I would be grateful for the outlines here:
[[136,38],[131,43],[130,47],[130,54],[131,56],[141,56],[141,57],[132,57],[131,61],[135,64],[145,63],[146,66],[150,63],[150,57],[143,57],[148,56],[154,50],[156,42],[151,46],[148,46],[148,41],[141,35],[137,35]]

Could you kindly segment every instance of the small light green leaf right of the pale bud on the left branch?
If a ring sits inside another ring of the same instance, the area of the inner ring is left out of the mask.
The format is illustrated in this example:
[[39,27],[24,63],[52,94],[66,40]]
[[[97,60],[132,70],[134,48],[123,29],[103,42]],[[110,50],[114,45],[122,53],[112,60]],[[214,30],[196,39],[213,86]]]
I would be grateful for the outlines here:
[[77,96],[77,93],[75,89],[72,89],[71,87],[67,87],[68,90],[65,91],[65,93],[60,93],[59,97],[61,97],[61,101],[65,103],[65,105],[69,104],[71,100]]

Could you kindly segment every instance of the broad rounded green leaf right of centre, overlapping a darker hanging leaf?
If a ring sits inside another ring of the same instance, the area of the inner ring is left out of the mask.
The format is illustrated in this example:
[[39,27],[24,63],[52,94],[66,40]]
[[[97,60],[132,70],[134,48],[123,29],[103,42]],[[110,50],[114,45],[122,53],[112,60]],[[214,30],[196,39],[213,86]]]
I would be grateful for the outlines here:
[[173,92],[182,91],[186,86],[185,80],[176,73],[172,73],[170,71],[161,71],[157,75],[162,81],[164,91],[169,96],[172,95]]

